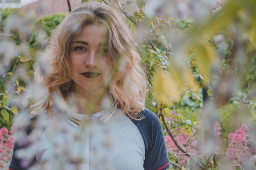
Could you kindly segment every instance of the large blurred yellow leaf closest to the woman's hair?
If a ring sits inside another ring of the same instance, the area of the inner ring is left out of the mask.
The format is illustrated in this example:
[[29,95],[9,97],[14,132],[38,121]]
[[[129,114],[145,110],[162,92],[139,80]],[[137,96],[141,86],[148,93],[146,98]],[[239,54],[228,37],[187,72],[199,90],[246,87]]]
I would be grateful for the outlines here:
[[[175,79],[164,70],[157,71],[153,81],[153,91],[159,102],[171,104],[180,97],[179,86]],[[172,98],[172,99],[171,99]]]

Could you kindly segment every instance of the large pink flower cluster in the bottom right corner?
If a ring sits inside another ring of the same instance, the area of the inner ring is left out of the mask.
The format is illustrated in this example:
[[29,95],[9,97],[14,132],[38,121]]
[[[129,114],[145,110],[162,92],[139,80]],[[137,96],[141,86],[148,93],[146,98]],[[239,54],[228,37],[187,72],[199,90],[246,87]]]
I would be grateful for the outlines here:
[[243,166],[245,161],[252,161],[255,155],[255,148],[250,143],[250,132],[246,124],[234,133],[229,134],[229,146],[226,155],[238,166]]

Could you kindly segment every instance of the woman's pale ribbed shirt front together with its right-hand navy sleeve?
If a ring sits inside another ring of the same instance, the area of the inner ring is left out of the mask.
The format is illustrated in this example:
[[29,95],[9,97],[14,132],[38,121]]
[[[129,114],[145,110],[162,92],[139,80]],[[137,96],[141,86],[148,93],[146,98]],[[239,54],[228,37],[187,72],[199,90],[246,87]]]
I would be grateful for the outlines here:
[[82,170],[166,170],[170,165],[159,119],[148,110],[140,116],[131,120],[115,108],[94,114],[90,122],[81,114],[56,117],[41,137],[36,158],[65,170],[75,169],[77,160]]

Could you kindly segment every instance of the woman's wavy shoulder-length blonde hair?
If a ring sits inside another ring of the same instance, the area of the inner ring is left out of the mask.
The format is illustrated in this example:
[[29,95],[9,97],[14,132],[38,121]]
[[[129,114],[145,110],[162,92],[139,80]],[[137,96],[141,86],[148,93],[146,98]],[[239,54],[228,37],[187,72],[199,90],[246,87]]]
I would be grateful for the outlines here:
[[76,7],[52,32],[45,50],[40,55],[51,69],[48,73],[37,66],[34,81],[47,89],[47,98],[40,107],[48,115],[52,112],[53,94],[64,100],[74,91],[71,79],[69,49],[76,34],[86,24],[104,24],[108,28],[107,53],[115,73],[109,84],[109,93],[117,106],[130,118],[136,119],[144,108],[146,95],[145,73],[139,64],[137,44],[121,13],[107,4],[87,2]]

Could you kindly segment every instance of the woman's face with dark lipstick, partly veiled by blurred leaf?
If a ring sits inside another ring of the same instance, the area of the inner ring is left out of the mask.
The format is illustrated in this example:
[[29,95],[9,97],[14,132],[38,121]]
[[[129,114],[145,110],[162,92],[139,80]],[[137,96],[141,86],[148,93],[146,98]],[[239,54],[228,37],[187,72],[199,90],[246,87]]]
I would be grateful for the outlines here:
[[88,24],[70,47],[71,78],[76,92],[106,88],[111,64],[107,55],[108,30],[102,24]]

